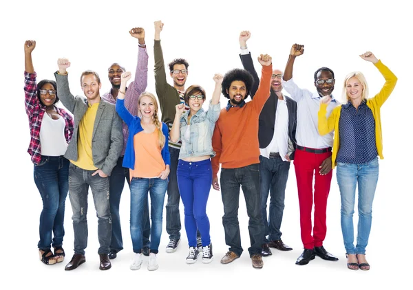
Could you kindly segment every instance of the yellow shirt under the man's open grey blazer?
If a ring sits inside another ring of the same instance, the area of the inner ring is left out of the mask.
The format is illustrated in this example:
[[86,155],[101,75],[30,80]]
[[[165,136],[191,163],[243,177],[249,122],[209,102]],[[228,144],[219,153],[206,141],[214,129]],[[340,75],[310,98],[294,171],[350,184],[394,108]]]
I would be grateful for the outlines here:
[[70,160],[72,164],[85,170],[98,169],[93,164],[92,155],[92,133],[94,129],[94,121],[96,119],[96,112],[98,111],[99,103],[89,105],[81,122],[79,122],[78,131],[78,159],[76,161]]

